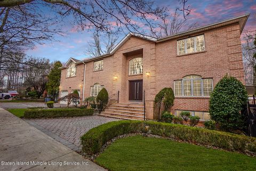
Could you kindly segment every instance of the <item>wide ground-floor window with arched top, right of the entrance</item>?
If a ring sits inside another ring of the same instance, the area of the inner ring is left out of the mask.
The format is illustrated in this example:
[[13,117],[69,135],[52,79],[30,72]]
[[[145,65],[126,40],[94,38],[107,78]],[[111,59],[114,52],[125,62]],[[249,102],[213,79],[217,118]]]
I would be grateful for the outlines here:
[[189,75],[174,81],[175,96],[210,96],[213,91],[212,78]]

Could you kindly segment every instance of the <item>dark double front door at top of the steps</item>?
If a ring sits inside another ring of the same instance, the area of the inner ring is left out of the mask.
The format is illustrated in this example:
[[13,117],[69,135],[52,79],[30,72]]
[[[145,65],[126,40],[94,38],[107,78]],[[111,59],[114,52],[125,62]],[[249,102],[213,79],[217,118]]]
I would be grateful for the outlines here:
[[143,81],[131,80],[129,81],[129,100],[142,101],[143,96]]

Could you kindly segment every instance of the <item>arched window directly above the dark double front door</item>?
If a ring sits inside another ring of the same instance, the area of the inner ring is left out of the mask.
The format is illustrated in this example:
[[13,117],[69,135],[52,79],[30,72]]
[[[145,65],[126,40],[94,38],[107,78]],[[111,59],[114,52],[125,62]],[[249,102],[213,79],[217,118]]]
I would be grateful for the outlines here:
[[129,75],[138,75],[143,73],[143,59],[133,58],[129,62]]

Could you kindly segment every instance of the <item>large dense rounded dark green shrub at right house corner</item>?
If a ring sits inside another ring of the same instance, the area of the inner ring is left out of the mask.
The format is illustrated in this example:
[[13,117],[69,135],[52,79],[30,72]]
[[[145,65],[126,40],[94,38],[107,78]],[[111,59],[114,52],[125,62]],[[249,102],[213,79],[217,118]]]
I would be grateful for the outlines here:
[[226,131],[242,129],[245,117],[241,114],[248,99],[245,86],[235,77],[225,76],[213,89],[210,99],[211,119]]

